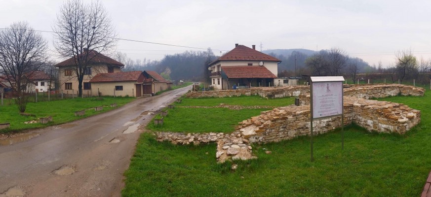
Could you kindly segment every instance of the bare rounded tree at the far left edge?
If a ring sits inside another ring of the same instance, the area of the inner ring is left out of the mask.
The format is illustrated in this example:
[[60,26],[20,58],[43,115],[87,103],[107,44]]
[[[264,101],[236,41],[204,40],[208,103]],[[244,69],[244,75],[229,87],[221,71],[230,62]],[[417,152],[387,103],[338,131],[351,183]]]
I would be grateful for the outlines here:
[[30,97],[33,73],[46,61],[47,43],[27,22],[13,23],[0,32],[0,74],[17,93],[15,102],[24,112]]

